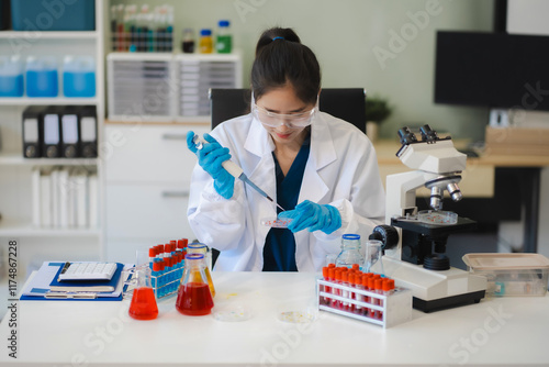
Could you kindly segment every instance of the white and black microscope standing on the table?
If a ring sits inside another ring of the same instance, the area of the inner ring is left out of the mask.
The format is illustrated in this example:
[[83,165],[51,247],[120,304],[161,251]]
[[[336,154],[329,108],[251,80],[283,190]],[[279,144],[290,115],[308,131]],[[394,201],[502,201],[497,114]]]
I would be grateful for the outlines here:
[[[475,222],[442,211],[444,191],[453,201],[462,198],[458,184],[467,156],[451,137],[440,138],[429,125],[421,127],[418,141],[408,127],[399,130],[396,156],[412,171],[386,177],[385,223],[373,230],[371,240],[384,246],[386,276],[413,294],[413,307],[424,312],[478,303],[484,297],[485,277],[450,267],[445,255],[448,236],[471,230]],[[430,190],[432,210],[417,211],[416,190]]]

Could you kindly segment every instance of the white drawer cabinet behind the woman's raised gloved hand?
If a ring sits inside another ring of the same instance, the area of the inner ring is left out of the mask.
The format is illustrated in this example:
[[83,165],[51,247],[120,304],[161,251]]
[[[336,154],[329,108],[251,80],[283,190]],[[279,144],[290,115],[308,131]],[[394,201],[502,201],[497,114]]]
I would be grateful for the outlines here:
[[117,142],[104,160],[107,259],[134,262],[138,249],[194,238],[187,220],[197,163],[187,148],[190,130],[203,135],[210,124],[105,124],[105,140]]

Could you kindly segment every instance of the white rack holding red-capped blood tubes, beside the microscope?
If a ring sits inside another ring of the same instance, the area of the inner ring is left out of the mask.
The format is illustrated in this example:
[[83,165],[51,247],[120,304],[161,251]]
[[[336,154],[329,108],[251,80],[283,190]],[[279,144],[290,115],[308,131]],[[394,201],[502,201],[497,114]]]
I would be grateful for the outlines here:
[[410,289],[397,287],[389,294],[380,294],[323,279],[318,279],[316,286],[318,310],[366,321],[383,329],[412,320]]

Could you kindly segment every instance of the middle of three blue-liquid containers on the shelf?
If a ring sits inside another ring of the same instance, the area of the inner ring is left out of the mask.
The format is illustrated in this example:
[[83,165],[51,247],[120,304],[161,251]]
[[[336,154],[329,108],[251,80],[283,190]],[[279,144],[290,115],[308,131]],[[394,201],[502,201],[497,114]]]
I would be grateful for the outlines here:
[[26,59],[26,96],[57,97],[59,92],[57,62],[53,56]]

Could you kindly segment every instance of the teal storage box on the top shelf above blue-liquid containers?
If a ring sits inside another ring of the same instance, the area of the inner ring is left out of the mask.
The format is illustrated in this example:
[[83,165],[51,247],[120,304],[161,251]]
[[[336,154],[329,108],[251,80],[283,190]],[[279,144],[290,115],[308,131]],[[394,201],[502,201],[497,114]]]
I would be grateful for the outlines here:
[[14,31],[93,31],[96,1],[11,0]]

